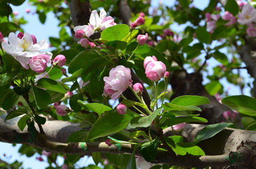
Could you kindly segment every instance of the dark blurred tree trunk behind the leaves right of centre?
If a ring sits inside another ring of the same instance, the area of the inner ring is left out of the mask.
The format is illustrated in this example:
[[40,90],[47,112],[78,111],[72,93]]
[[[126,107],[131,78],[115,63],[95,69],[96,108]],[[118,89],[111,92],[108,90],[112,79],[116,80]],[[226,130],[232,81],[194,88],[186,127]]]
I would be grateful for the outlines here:
[[209,124],[225,121],[222,116],[224,111],[232,111],[227,106],[221,104],[214,96],[209,95],[202,85],[202,75],[200,73],[188,74],[185,71],[176,71],[170,75],[170,85],[172,85],[173,95],[170,100],[182,95],[198,95],[207,97],[209,104],[201,105],[201,117],[206,118]]

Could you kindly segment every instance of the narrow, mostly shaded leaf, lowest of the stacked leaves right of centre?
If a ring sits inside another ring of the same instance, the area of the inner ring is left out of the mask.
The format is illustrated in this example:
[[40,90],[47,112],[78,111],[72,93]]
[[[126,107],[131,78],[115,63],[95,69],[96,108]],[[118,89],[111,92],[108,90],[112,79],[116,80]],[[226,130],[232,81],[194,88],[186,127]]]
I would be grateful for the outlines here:
[[175,117],[166,119],[161,126],[169,127],[180,123],[200,122],[207,123],[208,121],[200,117]]

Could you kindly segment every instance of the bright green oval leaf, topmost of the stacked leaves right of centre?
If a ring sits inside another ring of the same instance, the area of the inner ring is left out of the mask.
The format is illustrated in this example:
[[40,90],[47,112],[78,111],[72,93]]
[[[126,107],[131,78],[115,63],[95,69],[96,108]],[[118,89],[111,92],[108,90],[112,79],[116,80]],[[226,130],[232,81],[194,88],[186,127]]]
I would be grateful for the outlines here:
[[202,96],[184,95],[173,99],[170,103],[182,106],[197,106],[209,104],[209,99]]

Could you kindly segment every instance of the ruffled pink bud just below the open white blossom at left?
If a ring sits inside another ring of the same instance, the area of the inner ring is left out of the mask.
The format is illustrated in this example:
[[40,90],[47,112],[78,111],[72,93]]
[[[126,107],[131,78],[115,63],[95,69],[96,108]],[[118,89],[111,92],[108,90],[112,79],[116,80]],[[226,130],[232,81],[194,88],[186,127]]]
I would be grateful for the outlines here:
[[29,60],[29,67],[36,73],[42,73],[46,70],[50,57],[47,54],[39,54]]

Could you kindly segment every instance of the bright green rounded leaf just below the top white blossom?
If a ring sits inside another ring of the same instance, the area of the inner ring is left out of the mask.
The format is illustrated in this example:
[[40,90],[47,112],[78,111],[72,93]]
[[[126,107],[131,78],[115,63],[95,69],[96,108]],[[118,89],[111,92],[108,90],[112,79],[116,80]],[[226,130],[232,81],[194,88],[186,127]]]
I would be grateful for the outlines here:
[[130,32],[130,27],[126,24],[117,24],[104,29],[100,38],[105,41],[121,41]]

